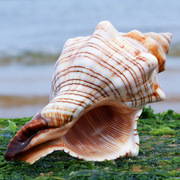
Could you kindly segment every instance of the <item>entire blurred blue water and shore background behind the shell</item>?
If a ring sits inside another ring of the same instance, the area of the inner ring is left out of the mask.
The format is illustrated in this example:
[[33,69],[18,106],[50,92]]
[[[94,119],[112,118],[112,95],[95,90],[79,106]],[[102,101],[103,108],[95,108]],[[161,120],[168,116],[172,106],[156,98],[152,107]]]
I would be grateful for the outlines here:
[[93,33],[102,20],[119,31],[171,32],[167,100],[155,112],[180,113],[179,0],[0,0],[0,118],[33,116],[48,103],[54,63],[65,41]]

